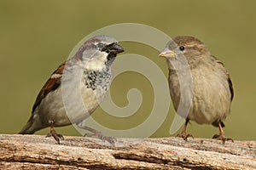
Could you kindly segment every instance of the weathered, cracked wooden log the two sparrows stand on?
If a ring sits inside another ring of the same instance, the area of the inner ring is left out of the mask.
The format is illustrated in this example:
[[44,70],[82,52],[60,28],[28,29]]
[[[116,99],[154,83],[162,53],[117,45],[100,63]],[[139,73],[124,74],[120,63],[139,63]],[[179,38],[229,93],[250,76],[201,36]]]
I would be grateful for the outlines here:
[[99,139],[0,134],[0,169],[256,169],[256,141]]

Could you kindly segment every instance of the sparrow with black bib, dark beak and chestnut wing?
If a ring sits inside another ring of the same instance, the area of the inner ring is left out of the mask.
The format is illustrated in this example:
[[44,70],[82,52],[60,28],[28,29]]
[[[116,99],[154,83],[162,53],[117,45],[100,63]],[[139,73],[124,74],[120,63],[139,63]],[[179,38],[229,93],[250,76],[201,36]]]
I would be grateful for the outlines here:
[[124,48],[113,37],[96,36],[84,42],[78,52],[49,77],[32,107],[32,116],[19,133],[32,134],[50,127],[47,137],[53,136],[60,144],[60,139],[64,138],[55,132],[54,127],[75,123],[93,133],[87,133],[86,136],[114,144],[112,137],[103,136],[83,123],[107,93],[111,65],[116,55],[122,52]]

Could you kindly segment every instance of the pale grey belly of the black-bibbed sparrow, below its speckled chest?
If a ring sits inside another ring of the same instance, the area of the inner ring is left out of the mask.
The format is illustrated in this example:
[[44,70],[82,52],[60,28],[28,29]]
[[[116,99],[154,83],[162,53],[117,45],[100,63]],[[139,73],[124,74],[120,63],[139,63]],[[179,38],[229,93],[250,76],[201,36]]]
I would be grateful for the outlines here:
[[[102,102],[106,92],[101,90],[92,90],[91,88],[81,88],[77,94],[74,90],[68,93],[67,97],[62,95],[61,88],[56,89],[49,94],[38,108],[41,121],[49,124],[54,122],[55,127],[67,126],[72,123],[81,122],[96,110]],[[54,95],[60,93],[60,95]]]

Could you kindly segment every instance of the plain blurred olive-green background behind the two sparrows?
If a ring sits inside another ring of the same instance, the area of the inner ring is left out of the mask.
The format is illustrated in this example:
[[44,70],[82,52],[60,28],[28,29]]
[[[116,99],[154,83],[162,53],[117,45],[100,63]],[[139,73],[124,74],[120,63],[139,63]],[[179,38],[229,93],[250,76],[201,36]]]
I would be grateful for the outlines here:
[[[226,136],[255,140],[255,7],[255,1],[235,0],[1,0],[0,133],[17,133],[25,125],[38,91],[83,37],[104,26],[131,22],[153,26],[170,37],[192,35],[205,42],[212,54],[224,62],[234,83],[235,99],[225,121]],[[126,53],[152,59],[167,75],[166,60],[157,57],[158,51],[138,43],[121,44]],[[105,114],[99,108],[94,116],[117,129],[132,127],[131,122],[132,125],[143,122],[154,103],[153,88],[145,77],[135,72],[119,75],[111,87],[113,100],[116,105],[127,105],[126,93],[131,88],[138,88],[143,94],[143,104],[136,115],[112,120],[102,116]],[[169,136],[173,116],[171,105],[166,121],[152,137]],[[80,135],[73,126],[57,130],[64,135]],[[48,132],[47,128],[38,134]],[[212,138],[218,128],[191,122],[188,132],[195,137]]]

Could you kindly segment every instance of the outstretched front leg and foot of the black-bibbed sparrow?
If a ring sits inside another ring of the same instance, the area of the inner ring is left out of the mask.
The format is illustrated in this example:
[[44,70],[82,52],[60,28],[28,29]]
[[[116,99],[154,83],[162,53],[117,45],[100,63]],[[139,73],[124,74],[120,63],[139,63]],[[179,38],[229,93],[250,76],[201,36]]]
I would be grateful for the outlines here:
[[84,137],[94,137],[97,139],[102,139],[103,142],[105,142],[107,140],[110,144],[112,144],[114,146],[114,143],[116,141],[115,138],[113,138],[111,136],[104,136],[100,131],[97,131],[96,129],[91,128],[91,127],[87,127],[87,126],[84,126],[81,124],[78,124],[78,126],[80,128],[83,128],[84,130],[88,130],[91,132],[91,133],[85,133]]

